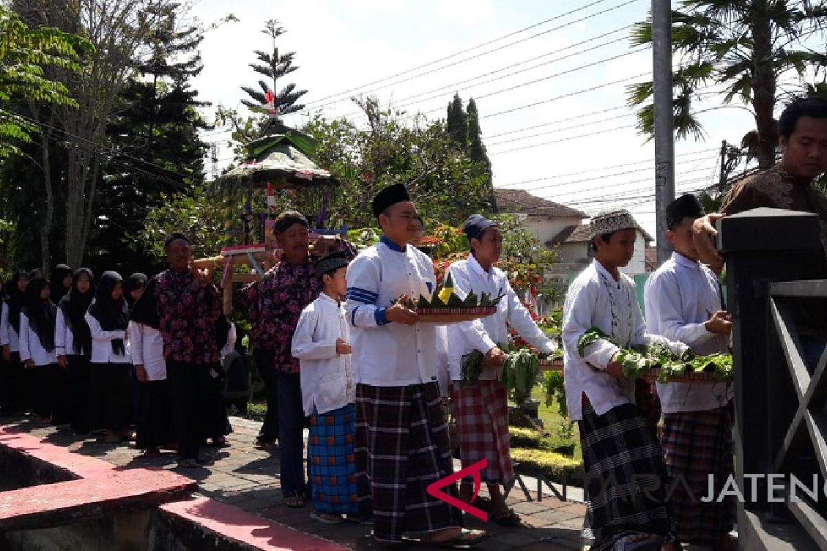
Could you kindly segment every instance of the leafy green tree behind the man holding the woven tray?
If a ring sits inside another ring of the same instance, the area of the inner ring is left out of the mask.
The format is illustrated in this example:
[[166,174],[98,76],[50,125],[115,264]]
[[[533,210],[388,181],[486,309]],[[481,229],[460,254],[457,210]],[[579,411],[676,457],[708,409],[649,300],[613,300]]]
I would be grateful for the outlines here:
[[[376,192],[397,182],[409,186],[427,218],[456,226],[472,212],[493,210],[485,178],[466,154],[457,155],[443,121],[414,116],[413,123],[403,123],[404,112],[384,109],[373,98],[357,103],[366,128],[321,116],[304,128],[319,140],[317,164],[341,181],[329,197],[332,226],[375,226],[367,206]],[[318,212],[325,193],[299,193],[296,205]]]

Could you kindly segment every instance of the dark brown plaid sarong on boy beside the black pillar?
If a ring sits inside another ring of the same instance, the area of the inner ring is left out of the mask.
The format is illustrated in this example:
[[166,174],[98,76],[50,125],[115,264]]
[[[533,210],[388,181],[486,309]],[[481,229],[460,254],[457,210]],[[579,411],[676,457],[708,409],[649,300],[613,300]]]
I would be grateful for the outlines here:
[[669,476],[681,475],[692,494],[677,483],[669,500],[681,542],[715,545],[734,527],[734,496],[726,496],[720,503],[700,501],[709,493],[710,474],[715,475],[717,496],[733,473],[732,425],[731,405],[663,414],[658,436],[664,463]]

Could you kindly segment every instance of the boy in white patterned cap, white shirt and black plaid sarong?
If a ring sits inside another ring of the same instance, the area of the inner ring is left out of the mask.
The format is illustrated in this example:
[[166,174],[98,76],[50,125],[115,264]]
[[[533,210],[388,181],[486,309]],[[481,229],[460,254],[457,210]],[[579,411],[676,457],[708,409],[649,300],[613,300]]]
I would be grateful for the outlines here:
[[[674,534],[661,447],[634,403],[634,382],[624,378],[617,361],[620,348],[638,344],[686,351],[685,344],[646,332],[634,281],[619,271],[632,259],[637,232],[625,210],[591,219],[595,261],[571,283],[563,308],[566,399],[580,429],[587,475],[583,539],[594,540],[594,551],[632,543],[657,549]],[[580,354],[577,341],[592,327],[618,344],[600,339]],[[674,542],[667,549],[676,549]]]

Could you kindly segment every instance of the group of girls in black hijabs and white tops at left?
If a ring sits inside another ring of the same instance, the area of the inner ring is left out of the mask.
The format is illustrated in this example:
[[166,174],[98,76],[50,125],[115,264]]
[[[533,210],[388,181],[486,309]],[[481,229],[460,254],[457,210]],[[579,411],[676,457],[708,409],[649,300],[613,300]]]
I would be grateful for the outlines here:
[[[197,413],[186,416],[194,423],[179,430],[181,392],[168,373],[174,359],[165,354],[154,301],[142,299],[156,288],[143,273],[125,282],[109,270],[96,279],[88,268],[73,273],[62,264],[50,281],[39,270],[16,273],[0,316],[0,415],[31,412],[36,423],[99,433],[108,443],[136,440],[147,454],[179,449],[182,440],[227,445],[223,379],[238,356],[236,327],[225,316],[209,322],[220,356],[202,370],[203,392],[189,405]],[[186,459],[197,454],[182,457],[192,466]]]

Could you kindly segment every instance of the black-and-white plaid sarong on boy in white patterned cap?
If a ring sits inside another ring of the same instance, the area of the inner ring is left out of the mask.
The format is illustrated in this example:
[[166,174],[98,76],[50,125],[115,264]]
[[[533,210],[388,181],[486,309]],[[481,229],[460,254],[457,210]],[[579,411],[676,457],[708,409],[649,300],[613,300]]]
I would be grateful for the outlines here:
[[582,536],[594,541],[592,551],[611,549],[630,533],[672,539],[661,446],[638,406],[622,404],[598,416],[586,402],[577,423],[588,477]]

